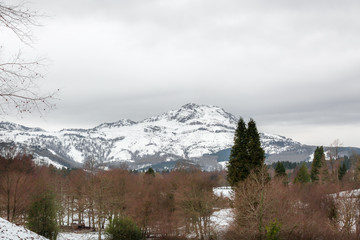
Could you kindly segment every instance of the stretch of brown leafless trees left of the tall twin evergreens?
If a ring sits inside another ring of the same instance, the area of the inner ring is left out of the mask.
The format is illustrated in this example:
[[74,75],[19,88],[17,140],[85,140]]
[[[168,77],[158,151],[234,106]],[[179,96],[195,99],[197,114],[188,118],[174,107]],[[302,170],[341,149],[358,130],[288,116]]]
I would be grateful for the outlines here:
[[[87,165],[91,166],[91,165]],[[85,228],[99,236],[110,222],[131,219],[143,237],[198,239],[213,234],[210,216],[228,204],[213,194],[225,172],[192,167],[169,173],[104,171],[96,167],[34,166],[31,156],[0,157],[0,216],[27,225],[50,239],[57,232]],[[48,235],[39,229],[52,219]]]

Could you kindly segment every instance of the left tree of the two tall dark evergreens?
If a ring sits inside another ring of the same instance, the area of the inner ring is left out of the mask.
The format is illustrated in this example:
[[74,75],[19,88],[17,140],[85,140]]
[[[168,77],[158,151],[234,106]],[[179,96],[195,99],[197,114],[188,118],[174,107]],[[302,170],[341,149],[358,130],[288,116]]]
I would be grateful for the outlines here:
[[244,180],[249,175],[248,161],[246,125],[244,119],[240,118],[229,158],[227,178],[231,186],[235,186],[236,183]]

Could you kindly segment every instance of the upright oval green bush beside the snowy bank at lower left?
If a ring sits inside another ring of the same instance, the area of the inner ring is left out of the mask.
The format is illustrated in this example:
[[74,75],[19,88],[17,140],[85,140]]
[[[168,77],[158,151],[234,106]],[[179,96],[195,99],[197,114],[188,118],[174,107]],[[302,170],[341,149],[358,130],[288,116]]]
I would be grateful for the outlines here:
[[41,236],[55,240],[59,232],[56,213],[55,194],[50,190],[45,190],[32,200],[27,227]]

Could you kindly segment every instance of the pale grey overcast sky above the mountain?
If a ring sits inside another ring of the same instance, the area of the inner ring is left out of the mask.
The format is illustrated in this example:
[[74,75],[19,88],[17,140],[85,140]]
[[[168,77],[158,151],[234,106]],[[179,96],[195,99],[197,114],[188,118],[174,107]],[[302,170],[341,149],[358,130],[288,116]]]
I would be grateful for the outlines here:
[[47,16],[31,49],[49,59],[56,109],[5,120],[47,130],[142,120],[194,102],[261,131],[360,147],[358,0],[31,0]]

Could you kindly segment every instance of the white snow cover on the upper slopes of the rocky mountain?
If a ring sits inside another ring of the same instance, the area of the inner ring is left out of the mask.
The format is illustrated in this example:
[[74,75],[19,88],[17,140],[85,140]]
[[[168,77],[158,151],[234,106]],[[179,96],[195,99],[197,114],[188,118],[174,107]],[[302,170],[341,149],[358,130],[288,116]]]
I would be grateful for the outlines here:
[[[87,156],[104,162],[133,162],[161,153],[190,159],[230,148],[236,124],[237,119],[222,108],[186,104],[178,110],[140,122],[124,119],[92,129],[46,132],[25,131],[17,127],[9,131],[5,129],[11,129],[11,123],[3,123],[0,136],[5,142],[46,148],[54,155],[56,152],[67,154],[79,163],[83,163]],[[287,151],[297,144],[274,134],[261,134],[261,142],[268,154]],[[273,144],[279,142],[285,144]]]

